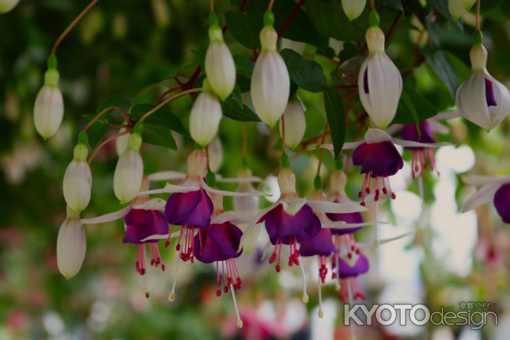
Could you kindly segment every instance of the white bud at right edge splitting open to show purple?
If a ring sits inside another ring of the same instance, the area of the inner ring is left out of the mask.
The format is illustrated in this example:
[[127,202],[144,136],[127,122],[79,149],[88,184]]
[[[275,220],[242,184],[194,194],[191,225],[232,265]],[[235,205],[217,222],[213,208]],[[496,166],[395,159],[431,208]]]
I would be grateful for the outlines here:
[[472,72],[458,87],[455,102],[464,118],[489,132],[510,111],[510,93],[487,71],[487,50],[483,45],[474,45],[470,57]]

